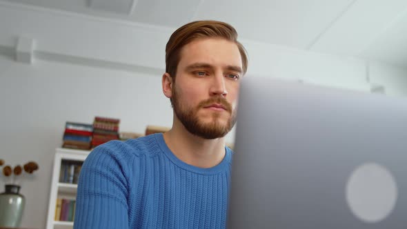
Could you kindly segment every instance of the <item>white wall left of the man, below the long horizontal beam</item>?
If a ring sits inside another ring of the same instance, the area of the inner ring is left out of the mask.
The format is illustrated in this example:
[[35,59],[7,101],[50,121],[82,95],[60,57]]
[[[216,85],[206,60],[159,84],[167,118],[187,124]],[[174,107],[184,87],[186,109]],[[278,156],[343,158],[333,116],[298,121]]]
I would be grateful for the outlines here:
[[45,227],[54,149],[61,146],[66,121],[117,117],[121,130],[141,133],[148,124],[172,123],[159,76],[45,61],[27,66],[2,56],[0,106],[0,158],[39,163],[37,175],[21,182],[27,228]]

